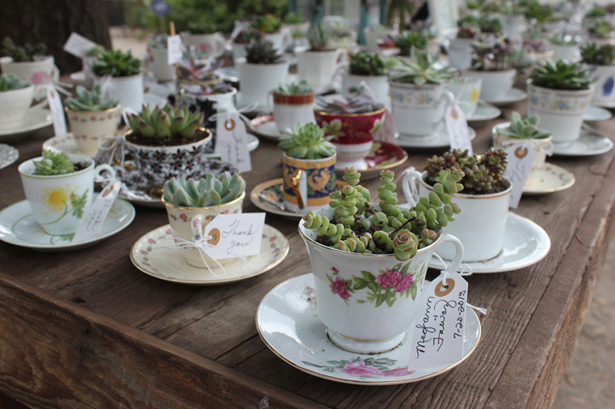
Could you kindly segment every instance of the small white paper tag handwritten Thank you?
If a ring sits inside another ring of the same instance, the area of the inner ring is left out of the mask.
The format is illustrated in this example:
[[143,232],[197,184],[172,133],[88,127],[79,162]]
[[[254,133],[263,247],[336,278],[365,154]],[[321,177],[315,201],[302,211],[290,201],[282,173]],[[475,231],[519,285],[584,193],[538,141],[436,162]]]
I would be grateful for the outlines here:
[[213,259],[254,256],[261,251],[265,213],[221,214],[205,226]]

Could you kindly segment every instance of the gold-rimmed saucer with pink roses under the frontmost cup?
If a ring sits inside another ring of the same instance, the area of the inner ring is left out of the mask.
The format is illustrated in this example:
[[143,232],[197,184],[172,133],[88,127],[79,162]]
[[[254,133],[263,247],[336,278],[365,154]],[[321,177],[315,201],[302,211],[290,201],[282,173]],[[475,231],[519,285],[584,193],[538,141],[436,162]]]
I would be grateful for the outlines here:
[[284,281],[274,287],[256,311],[256,329],[267,347],[292,367],[318,378],[353,385],[398,385],[440,375],[465,361],[481,337],[476,313],[467,310],[463,358],[457,362],[410,368],[412,343],[381,354],[347,352],[327,337],[318,318],[313,274]]

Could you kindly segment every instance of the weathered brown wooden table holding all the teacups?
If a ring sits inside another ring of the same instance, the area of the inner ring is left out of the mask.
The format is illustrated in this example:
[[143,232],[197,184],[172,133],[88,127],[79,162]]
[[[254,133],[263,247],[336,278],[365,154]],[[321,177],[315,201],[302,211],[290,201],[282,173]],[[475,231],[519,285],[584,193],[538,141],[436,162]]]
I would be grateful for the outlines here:
[[[525,112],[522,103],[514,108]],[[477,129],[477,152],[501,121]],[[615,132],[615,119],[598,127]],[[19,162],[39,155],[51,132],[16,143]],[[433,153],[411,151],[396,171],[422,168]],[[550,254],[519,271],[468,278],[469,301],[489,310],[482,340],[461,366],[436,378],[343,385],[300,372],[265,347],[254,324],[260,300],[310,271],[295,221],[267,215],[291,245],[274,270],[190,287],[133,267],[132,244],[167,223],[164,210],[138,207],[129,228],[88,249],[51,254],[0,243],[0,392],[43,408],[549,407],[612,235],[613,156],[550,159],[572,171],[576,184],[525,197],[516,211],[547,231]],[[279,157],[275,145],[261,141],[254,170],[244,175],[249,190],[281,176]],[[0,186],[0,208],[24,199],[16,164],[0,170]],[[257,210],[245,201],[244,211]]]

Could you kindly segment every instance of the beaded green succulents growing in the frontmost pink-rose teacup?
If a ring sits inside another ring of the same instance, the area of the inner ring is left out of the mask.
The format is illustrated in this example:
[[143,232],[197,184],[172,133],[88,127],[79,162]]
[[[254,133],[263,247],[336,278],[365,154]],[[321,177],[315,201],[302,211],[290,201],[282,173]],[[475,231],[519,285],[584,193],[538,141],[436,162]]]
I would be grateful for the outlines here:
[[333,218],[311,211],[303,218],[304,227],[316,230],[316,241],[342,251],[366,254],[394,254],[400,261],[411,259],[416,252],[433,244],[441,229],[455,220],[459,207],[450,194],[458,193],[461,172],[443,171],[428,197],[416,206],[402,210],[397,205],[395,174],[380,172],[378,206],[370,204],[370,193],[359,185],[361,174],[346,168],[341,191],[331,193],[329,205]]

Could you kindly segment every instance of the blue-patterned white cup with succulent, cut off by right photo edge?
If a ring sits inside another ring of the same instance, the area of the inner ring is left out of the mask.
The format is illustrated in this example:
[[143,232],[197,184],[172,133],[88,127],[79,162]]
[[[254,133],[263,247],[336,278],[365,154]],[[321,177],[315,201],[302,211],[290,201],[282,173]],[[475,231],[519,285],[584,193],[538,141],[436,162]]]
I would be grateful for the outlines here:
[[581,49],[581,62],[587,64],[589,75],[594,82],[592,103],[612,105],[615,102],[615,46],[588,43]]

